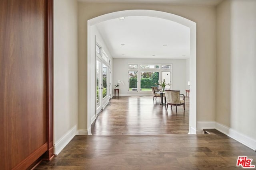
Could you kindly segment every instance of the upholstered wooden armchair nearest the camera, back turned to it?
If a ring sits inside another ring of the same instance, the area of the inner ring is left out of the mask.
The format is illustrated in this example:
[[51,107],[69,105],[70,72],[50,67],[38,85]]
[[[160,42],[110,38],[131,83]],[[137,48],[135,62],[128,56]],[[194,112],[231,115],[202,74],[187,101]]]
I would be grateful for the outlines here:
[[[185,95],[180,94],[180,90],[164,90],[165,92],[165,98],[167,102],[166,110],[168,109],[168,105],[176,106],[176,113],[177,113],[177,106],[183,105],[183,108],[185,110]],[[180,99],[180,96],[183,96],[183,100]]]

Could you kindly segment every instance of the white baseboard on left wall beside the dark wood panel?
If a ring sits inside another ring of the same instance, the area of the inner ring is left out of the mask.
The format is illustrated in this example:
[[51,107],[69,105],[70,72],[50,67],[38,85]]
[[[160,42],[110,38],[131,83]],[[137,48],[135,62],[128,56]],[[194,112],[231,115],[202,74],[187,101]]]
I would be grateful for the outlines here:
[[54,143],[54,154],[58,155],[66,145],[76,135],[76,125],[72,127],[65,135],[63,135],[56,143]]

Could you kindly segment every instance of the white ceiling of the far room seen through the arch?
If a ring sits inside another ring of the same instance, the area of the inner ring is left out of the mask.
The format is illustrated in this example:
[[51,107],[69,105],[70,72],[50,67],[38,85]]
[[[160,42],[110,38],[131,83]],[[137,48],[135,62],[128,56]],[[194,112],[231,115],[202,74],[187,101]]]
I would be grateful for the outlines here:
[[190,30],[174,21],[129,16],[104,21],[96,27],[114,58],[184,59],[190,54]]

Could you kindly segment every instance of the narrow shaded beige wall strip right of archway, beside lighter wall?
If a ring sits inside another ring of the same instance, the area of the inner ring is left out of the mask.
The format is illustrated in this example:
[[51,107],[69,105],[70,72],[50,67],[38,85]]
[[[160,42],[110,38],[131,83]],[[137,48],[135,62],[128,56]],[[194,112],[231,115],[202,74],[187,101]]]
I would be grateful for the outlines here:
[[230,127],[230,0],[217,7],[216,121]]

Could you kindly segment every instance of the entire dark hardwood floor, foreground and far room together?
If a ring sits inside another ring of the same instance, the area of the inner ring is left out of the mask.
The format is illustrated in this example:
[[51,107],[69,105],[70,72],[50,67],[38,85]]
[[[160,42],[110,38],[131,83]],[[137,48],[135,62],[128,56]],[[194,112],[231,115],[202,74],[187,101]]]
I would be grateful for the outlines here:
[[76,135],[36,170],[243,169],[236,166],[238,156],[256,165],[254,150],[214,129],[188,135],[187,108],[178,107],[176,115],[175,108],[160,106],[159,98],[154,104],[149,97],[113,99],[93,124],[93,135]]

